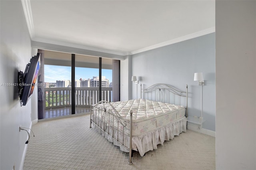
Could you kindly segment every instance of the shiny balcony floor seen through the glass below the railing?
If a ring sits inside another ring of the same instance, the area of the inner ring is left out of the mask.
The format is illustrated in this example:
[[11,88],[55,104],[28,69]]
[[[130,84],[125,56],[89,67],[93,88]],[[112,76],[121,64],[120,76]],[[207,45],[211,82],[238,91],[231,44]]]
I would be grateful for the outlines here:
[[[61,116],[72,115],[71,107],[62,107],[56,109],[45,109],[45,119],[56,118]],[[76,107],[76,113],[90,113],[90,107]]]

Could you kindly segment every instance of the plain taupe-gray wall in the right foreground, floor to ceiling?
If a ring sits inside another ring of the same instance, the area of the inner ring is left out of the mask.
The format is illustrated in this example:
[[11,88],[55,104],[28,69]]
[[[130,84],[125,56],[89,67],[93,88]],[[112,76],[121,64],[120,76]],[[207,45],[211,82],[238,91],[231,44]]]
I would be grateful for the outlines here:
[[256,1],[216,1],[216,169],[256,169]]

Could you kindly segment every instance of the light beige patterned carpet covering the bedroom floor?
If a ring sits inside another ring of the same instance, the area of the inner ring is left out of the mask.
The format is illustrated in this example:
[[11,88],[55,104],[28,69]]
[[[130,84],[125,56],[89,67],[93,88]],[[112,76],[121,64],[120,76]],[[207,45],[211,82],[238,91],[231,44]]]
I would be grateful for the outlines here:
[[214,170],[215,138],[187,130],[141,157],[108,142],[90,115],[38,122],[32,126],[23,170]]

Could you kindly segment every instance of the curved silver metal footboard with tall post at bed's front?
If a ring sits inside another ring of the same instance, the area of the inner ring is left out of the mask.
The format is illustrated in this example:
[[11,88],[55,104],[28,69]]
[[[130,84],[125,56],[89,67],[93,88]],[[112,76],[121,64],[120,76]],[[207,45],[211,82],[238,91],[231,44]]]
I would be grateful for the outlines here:
[[[90,111],[90,128],[98,127],[127,150],[129,150],[129,162],[132,164],[132,110],[130,110],[130,122],[123,119],[108,101],[100,101],[95,105],[91,105]],[[130,127],[127,126],[130,123]],[[125,146],[124,133],[129,133],[129,147]],[[117,134],[117,135],[115,135]],[[120,134],[120,135],[119,135]],[[122,135],[121,135],[122,134]]]

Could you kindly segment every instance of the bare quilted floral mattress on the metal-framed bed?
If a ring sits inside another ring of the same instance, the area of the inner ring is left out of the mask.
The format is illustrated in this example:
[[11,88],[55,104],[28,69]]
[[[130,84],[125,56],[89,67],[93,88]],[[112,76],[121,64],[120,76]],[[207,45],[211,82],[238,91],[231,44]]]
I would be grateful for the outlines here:
[[[164,127],[174,121],[184,119],[185,108],[183,106],[162,103],[145,99],[134,99],[129,101],[118,101],[111,103],[120,116],[126,121],[126,127],[118,125],[114,121],[114,127],[125,134],[130,134],[130,110],[132,114],[132,136],[140,136],[147,132]],[[100,106],[100,105],[99,105]],[[114,111],[112,111],[114,113]],[[101,113],[94,114],[94,120],[102,117]],[[110,122],[112,119],[110,118]],[[107,126],[112,126],[107,125]]]

